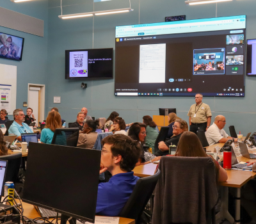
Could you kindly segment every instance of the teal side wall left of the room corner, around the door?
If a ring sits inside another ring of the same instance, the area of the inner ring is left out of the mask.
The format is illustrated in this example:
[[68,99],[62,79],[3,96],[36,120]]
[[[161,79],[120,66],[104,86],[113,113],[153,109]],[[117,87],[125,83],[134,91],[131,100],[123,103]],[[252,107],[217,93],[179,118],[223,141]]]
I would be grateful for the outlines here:
[[[12,3],[10,0],[1,0],[0,7],[44,20],[44,37],[0,26],[0,32],[25,38],[22,61],[0,58],[0,64],[17,66],[16,106],[26,111],[23,102],[28,102],[28,83],[47,84],[48,3],[47,1]],[[0,15],[0,19],[4,18]],[[8,117],[13,120],[12,115]]]

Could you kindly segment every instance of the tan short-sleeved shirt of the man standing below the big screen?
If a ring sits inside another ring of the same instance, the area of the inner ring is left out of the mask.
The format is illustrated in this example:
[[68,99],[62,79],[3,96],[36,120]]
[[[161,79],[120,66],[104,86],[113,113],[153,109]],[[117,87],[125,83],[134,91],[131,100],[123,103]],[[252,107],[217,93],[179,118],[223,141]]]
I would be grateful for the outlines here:
[[[196,117],[194,115],[196,114]],[[198,106],[196,104],[193,104],[189,111],[188,116],[191,117],[191,123],[205,123],[207,122],[207,117],[212,116],[210,107],[202,102]]]

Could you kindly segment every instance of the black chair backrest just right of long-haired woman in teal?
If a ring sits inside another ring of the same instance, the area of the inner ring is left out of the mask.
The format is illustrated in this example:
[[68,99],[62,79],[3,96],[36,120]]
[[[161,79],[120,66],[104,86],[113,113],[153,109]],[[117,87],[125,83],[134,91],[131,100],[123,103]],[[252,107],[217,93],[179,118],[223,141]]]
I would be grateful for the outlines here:
[[79,128],[55,129],[54,135],[52,138],[52,144],[76,147],[78,137],[79,137]]

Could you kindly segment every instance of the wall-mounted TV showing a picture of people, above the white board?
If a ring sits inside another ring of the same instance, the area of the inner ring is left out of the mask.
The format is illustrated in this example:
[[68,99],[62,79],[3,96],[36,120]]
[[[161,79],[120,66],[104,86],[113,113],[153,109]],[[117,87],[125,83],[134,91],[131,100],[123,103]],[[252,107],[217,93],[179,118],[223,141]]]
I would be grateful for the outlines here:
[[0,32],[0,58],[22,60],[24,38]]

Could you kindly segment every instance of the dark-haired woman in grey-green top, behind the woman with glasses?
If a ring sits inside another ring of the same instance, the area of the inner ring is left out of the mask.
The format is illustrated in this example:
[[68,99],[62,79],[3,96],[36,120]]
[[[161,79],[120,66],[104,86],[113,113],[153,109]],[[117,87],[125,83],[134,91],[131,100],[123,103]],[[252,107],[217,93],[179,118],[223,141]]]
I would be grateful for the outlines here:
[[143,124],[145,124],[147,136],[145,138],[145,144],[152,148],[152,152],[155,152],[155,142],[158,136],[158,132],[156,131],[156,123],[152,120],[151,116],[143,116]]

